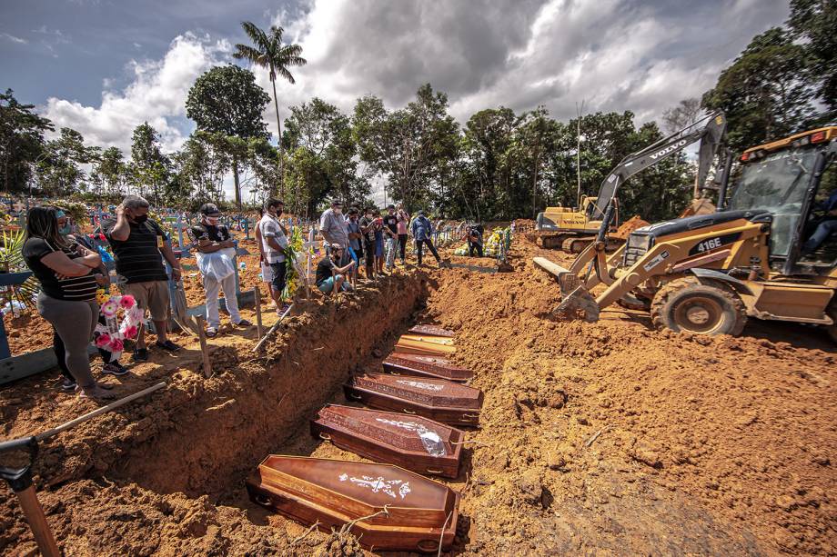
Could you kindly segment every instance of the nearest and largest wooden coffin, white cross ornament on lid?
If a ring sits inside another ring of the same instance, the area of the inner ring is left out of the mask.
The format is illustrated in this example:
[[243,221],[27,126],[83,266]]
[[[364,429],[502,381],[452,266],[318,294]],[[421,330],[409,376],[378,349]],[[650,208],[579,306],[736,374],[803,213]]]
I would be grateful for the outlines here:
[[459,518],[459,493],[391,464],[271,454],[247,478],[247,492],[297,522],[319,522],[322,532],[381,512],[350,530],[361,545],[380,551],[435,553],[439,539],[446,551]]

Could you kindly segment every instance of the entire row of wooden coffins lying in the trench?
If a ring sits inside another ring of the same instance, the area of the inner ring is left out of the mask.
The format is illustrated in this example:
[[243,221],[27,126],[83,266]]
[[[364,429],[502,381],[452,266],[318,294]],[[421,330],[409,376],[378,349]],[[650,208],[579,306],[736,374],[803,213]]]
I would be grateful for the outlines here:
[[367,548],[438,552],[453,543],[459,493],[420,474],[455,478],[483,395],[450,363],[453,333],[418,325],[384,360],[389,373],[356,375],[349,401],[328,404],[311,433],[377,463],[270,455],[247,480],[253,501],[324,532],[348,529]]

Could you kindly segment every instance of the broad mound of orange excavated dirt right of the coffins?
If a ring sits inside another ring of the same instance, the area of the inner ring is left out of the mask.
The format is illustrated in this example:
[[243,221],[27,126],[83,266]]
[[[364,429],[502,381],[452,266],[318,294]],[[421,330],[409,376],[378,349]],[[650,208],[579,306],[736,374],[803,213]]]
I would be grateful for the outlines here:
[[485,444],[463,498],[469,551],[837,552],[824,333],[803,346],[781,326],[659,333],[619,311],[554,323],[558,297],[527,263],[454,270],[429,298],[487,396],[470,436]]

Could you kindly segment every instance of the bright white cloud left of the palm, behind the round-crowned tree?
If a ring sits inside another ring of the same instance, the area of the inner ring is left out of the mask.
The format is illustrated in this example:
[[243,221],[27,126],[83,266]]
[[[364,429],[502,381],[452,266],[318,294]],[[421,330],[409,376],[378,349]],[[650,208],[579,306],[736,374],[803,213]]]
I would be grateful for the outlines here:
[[161,135],[166,152],[186,139],[186,98],[198,75],[224,61],[230,45],[187,33],[178,35],[161,60],[131,61],[132,81],[122,91],[106,90],[99,106],[50,97],[43,113],[56,127],[71,127],[86,141],[103,147],[116,145],[130,153],[134,128],[148,122]]

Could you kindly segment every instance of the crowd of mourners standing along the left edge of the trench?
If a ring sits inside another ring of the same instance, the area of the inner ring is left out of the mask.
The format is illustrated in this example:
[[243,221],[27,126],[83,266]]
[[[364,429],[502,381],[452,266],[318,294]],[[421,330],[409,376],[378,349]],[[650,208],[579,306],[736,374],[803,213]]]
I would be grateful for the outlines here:
[[[288,230],[280,220],[284,204],[268,199],[255,229],[262,275],[269,283],[277,313],[287,310],[283,300],[287,277]],[[61,388],[94,399],[114,398],[111,387],[96,381],[90,365],[88,347],[96,335],[96,325],[104,323],[97,293],[109,292],[112,280],[136,307],[150,315],[154,323],[156,350],[175,353],[180,346],[168,336],[171,315],[169,276],[179,283],[180,262],[166,232],[148,218],[150,204],[137,195],[128,195],[112,218],[100,223],[98,231],[113,253],[116,274],[110,274],[103,261],[106,253],[97,249],[86,234],[74,234],[68,215],[61,208],[38,206],[29,209],[23,246],[25,263],[40,282],[37,311],[54,329],[54,348],[62,371]],[[220,223],[215,204],[204,204],[199,221],[188,234],[206,292],[209,337],[220,328],[218,294],[223,291],[230,321],[237,327],[252,325],[241,317],[237,307],[236,244],[225,224]],[[419,266],[424,250],[444,265],[433,242],[434,226],[419,211],[411,217],[402,205],[390,204],[386,213],[375,207],[348,207],[334,200],[319,220],[325,256],[318,262],[314,283],[326,295],[352,290],[358,282],[392,273],[399,264],[407,265],[408,237],[415,243]],[[166,264],[168,270],[166,270]],[[360,268],[363,267],[363,274]],[[145,322],[144,322],[145,323]],[[132,353],[135,362],[148,359],[144,326],[138,328]],[[124,375],[120,353],[98,350],[103,374]]]

